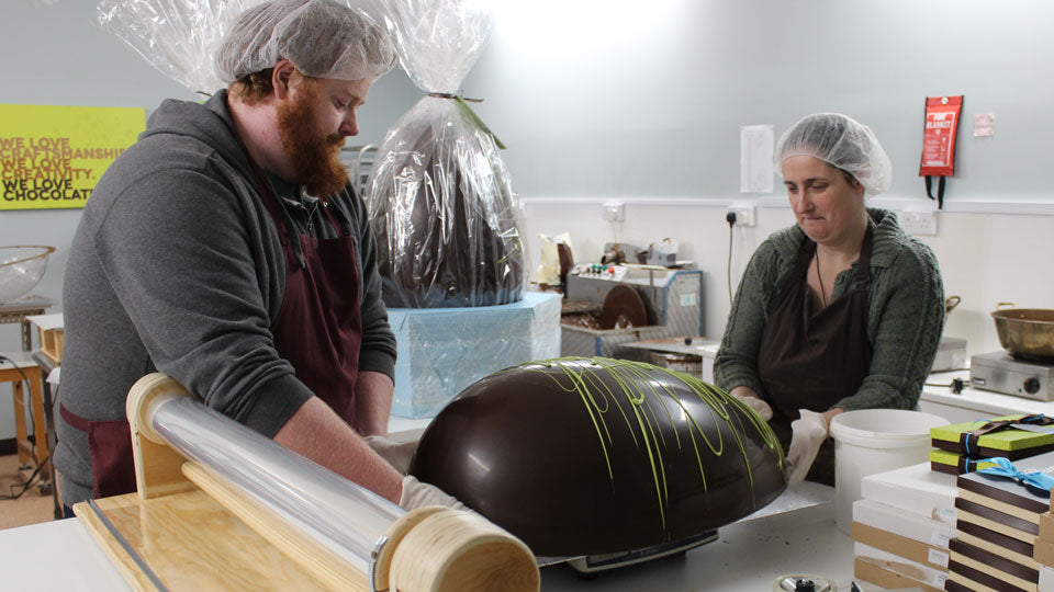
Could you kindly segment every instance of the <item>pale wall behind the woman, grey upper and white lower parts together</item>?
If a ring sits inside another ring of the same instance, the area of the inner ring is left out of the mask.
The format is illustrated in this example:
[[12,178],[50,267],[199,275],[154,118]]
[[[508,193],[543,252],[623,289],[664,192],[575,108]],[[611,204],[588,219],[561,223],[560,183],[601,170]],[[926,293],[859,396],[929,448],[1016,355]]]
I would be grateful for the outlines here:
[[[570,4],[570,5],[568,5]],[[707,333],[728,315],[725,207],[751,202],[759,226],[736,234],[733,287],[749,253],[793,224],[785,196],[739,193],[739,128],[848,113],[894,163],[873,205],[928,209],[918,177],[927,95],[965,94],[955,177],[935,251],[949,295],[946,334],[972,353],[999,349],[998,301],[1054,308],[1054,3],[1028,0],[558,0],[501,4],[491,45],[466,81],[509,147],[525,234],[570,231],[576,259],[604,242],[671,237],[706,272]],[[569,49],[570,48],[570,49]],[[995,113],[994,137],[973,136]],[[627,204],[626,223],[599,204]]]

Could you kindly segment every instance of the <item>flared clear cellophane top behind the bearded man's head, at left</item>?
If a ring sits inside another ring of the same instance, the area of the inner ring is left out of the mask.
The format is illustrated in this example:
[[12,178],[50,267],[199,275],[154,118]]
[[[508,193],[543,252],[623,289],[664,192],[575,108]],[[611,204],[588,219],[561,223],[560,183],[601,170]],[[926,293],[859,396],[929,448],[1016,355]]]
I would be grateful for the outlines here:
[[216,49],[238,14],[261,0],[100,0],[99,24],[191,91],[226,87]]

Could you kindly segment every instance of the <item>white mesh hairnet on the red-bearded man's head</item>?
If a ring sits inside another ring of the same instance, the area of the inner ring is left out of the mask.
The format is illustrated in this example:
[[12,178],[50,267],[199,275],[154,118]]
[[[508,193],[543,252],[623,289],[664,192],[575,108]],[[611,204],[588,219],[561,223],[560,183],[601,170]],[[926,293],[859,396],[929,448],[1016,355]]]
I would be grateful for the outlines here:
[[273,0],[238,15],[216,53],[231,83],[288,59],[302,73],[375,79],[395,66],[395,46],[365,14],[335,0]]

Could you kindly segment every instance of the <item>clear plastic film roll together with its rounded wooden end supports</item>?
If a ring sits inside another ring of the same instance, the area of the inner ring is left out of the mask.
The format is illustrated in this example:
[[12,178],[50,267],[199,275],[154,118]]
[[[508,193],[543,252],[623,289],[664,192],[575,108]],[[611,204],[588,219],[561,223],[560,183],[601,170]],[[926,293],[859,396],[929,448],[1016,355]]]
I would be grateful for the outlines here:
[[164,374],[132,387],[127,414],[141,499],[178,490],[170,480],[178,460],[177,470],[328,588],[471,592],[501,581],[503,591],[539,589],[530,549],[480,514],[438,505],[406,512],[210,409]]

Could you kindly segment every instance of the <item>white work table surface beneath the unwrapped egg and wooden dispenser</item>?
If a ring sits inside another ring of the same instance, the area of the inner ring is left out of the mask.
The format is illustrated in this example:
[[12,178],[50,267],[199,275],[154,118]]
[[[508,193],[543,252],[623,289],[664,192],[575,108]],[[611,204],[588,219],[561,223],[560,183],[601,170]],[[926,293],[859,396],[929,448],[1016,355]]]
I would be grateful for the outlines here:
[[[817,498],[833,494],[831,488],[806,486]],[[567,566],[542,568],[541,589],[754,592],[772,590],[780,576],[810,573],[834,580],[839,590],[849,590],[853,545],[836,530],[831,501],[725,526],[718,534],[717,540],[681,557],[631,566],[594,580],[579,579]],[[79,520],[0,531],[0,572],[5,590],[132,590]]]

